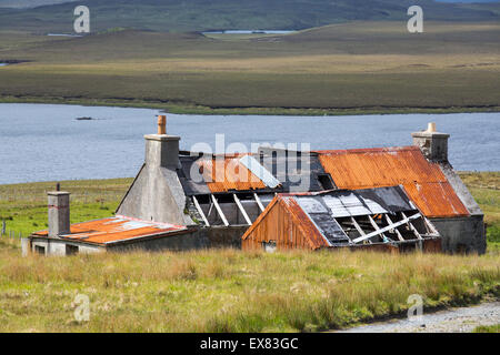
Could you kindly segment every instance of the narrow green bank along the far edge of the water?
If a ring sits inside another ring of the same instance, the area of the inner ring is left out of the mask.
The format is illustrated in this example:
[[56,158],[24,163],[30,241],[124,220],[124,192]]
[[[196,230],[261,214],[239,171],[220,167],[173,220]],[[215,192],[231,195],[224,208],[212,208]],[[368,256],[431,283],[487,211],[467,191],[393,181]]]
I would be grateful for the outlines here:
[[370,114],[446,114],[446,113],[479,113],[500,112],[500,105],[494,106],[444,106],[444,108],[210,108],[203,105],[188,105],[181,103],[167,103],[143,100],[120,99],[81,99],[81,98],[50,98],[50,97],[1,97],[0,103],[40,103],[40,104],[72,104],[84,106],[116,106],[136,109],[156,109],[176,114],[201,115],[370,115]]

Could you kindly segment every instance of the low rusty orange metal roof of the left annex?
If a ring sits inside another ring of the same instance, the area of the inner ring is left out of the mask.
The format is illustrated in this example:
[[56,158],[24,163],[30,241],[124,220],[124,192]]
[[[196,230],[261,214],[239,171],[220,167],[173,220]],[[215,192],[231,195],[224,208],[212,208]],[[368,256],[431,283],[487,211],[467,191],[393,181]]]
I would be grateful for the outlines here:
[[[91,244],[112,244],[141,237],[154,237],[187,231],[186,226],[153,223],[134,219],[114,216],[103,220],[77,223],[71,225],[71,234],[61,239]],[[37,232],[36,236],[47,236],[48,231]]]

